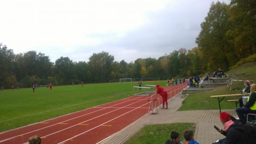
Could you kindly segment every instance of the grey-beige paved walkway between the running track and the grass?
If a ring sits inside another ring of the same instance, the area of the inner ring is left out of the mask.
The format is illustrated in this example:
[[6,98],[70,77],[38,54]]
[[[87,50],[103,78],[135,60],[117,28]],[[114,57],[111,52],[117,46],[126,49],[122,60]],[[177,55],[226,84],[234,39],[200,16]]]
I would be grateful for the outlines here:
[[[148,124],[168,124],[168,123],[196,123],[195,140],[201,144],[212,144],[218,139],[224,138],[219,132],[217,132],[213,125],[219,128],[223,128],[219,120],[219,110],[189,110],[189,111],[177,111],[181,106],[183,98],[181,95],[177,95],[168,101],[169,109],[159,109],[157,115],[144,115],[137,121],[128,125],[124,129],[116,132],[101,144],[123,144],[132,135],[138,132],[144,125]],[[229,112],[230,115],[238,117],[235,109],[225,109],[225,112]]]

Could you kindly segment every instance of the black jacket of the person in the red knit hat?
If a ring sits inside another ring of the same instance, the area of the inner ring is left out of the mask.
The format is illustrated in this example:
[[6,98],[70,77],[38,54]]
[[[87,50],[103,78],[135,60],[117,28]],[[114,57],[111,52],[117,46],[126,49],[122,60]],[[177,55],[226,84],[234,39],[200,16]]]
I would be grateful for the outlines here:
[[219,140],[213,144],[247,144],[247,135],[244,132],[243,125],[236,121],[235,124],[230,126],[227,130],[226,138]]

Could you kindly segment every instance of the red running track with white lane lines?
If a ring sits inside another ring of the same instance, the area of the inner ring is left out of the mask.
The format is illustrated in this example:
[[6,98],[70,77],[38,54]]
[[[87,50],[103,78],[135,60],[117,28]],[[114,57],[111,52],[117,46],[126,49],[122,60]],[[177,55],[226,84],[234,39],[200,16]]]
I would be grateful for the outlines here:
[[[168,99],[185,87],[186,84],[167,87]],[[132,96],[2,132],[0,144],[28,144],[28,138],[33,135],[41,137],[42,144],[96,144],[145,115],[148,99],[151,96]]]

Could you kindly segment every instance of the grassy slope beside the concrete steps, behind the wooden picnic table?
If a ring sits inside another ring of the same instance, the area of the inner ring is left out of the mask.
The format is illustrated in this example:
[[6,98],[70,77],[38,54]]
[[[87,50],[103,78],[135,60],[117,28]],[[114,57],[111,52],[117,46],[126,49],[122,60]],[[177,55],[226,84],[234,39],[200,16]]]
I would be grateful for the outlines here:
[[[225,73],[244,73],[244,75],[236,78],[237,80],[253,80],[256,83],[256,62],[244,63],[236,69],[232,69]],[[210,92],[201,92],[197,94],[189,94],[183,101],[183,105],[178,110],[193,110],[193,109],[218,109],[217,98],[210,98],[211,95],[224,95],[239,93],[243,87],[243,82],[233,82],[232,90],[227,86],[219,87]],[[221,101],[221,109],[234,109],[236,105],[234,102],[227,102],[230,99],[237,99],[237,97],[224,98]]]

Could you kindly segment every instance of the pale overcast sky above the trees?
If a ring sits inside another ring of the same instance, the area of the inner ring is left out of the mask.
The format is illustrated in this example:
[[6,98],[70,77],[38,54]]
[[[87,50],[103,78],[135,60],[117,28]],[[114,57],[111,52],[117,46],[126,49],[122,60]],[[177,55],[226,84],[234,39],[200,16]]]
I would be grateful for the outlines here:
[[[217,0],[213,0],[216,2]],[[222,0],[220,0],[222,2]],[[224,0],[229,3],[229,0]],[[52,62],[88,61],[102,51],[116,61],[159,58],[196,46],[212,0],[1,0],[0,43],[35,50]]]

